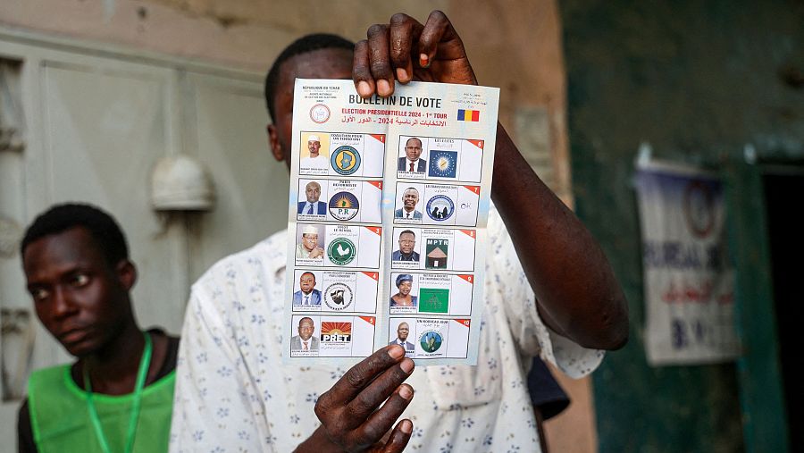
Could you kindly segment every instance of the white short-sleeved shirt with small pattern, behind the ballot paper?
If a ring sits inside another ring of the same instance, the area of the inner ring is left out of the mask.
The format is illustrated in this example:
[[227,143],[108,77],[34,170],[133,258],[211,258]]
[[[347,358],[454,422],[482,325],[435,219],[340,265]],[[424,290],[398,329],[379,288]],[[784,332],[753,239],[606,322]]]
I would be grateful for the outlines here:
[[[603,353],[558,336],[492,206],[477,366],[417,367],[403,417],[410,451],[539,451],[525,375],[540,355],[573,377]],[[193,286],[172,419],[171,451],[291,451],[320,424],[317,398],[347,367],[282,365],[288,234],[224,258]]]

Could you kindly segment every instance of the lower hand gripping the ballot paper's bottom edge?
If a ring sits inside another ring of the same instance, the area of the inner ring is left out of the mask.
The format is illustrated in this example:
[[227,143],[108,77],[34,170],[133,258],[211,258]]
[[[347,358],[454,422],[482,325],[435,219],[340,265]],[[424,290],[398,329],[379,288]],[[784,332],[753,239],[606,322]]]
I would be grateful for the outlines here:
[[413,388],[402,383],[413,369],[413,360],[405,358],[405,348],[398,345],[382,348],[351,367],[318,398],[315,415],[322,425],[297,452],[405,449],[413,431],[410,420],[399,422],[385,442],[381,439],[413,399]]

